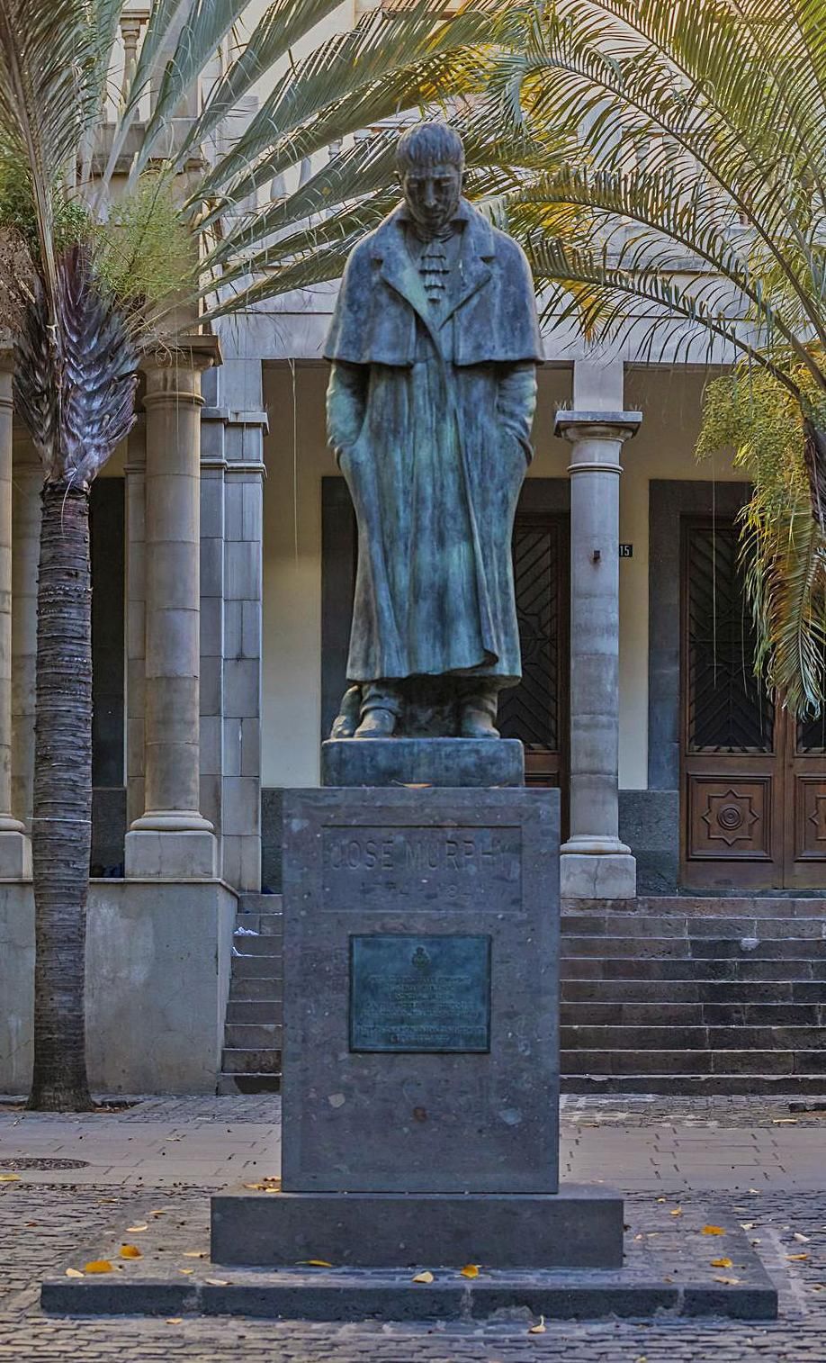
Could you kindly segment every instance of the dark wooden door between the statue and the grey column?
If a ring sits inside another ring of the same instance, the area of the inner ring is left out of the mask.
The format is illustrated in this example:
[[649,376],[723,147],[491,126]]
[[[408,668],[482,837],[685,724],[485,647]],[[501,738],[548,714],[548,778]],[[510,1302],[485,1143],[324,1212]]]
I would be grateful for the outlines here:
[[[503,691],[499,731],[525,744],[526,785],[567,792],[568,518],[519,511],[514,523],[514,585],[522,682]],[[563,815],[564,818],[564,815]]]

